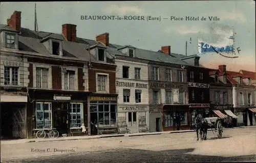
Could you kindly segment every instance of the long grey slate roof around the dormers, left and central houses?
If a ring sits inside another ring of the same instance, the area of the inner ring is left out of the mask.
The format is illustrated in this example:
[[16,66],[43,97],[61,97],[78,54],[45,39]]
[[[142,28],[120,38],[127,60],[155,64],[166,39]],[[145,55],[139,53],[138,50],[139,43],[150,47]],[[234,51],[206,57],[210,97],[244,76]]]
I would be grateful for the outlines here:
[[[0,24],[0,29],[12,30],[7,25],[2,25],[2,24]],[[81,60],[86,60],[86,61],[90,60],[90,58],[89,58],[90,53],[88,52],[87,48],[89,46],[99,44],[95,40],[83,39],[83,38],[79,38],[79,37],[77,37],[76,42],[71,42],[71,41],[67,41],[62,36],[62,34],[41,32],[41,31],[36,33],[32,30],[25,29],[25,28],[22,28],[21,32],[22,32],[21,35],[18,36],[20,50],[36,52],[36,53],[46,55],[46,56],[50,56],[50,53],[46,49],[44,44],[42,44],[40,41],[43,39],[47,39],[47,38],[55,38],[55,39],[63,40],[63,44],[62,44],[63,57],[71,57],[71,58],[76,58],[76,59],[81,59]],[[102,46],[104,46],[104,45],[102,45]],[[123,46],[123,45],[117,45],[117,44],[110,43],[109,46],[106,47],[107,48],[106,49],[107,58],[113,59],[114,56],[116,56],[116,55],[126,56],[126,54],[121,53],[120,51],[118,51],[118,49],[127,47],[127,46],[135,48],[132,45]],[[160,53],[160,52],[154,52],[154,51],[148,51],[148,50],[135,48],[135,56],[136,56],[136,58],[139,58],[139,59],[189,65],[185,61],[181,60],[181,58],[185,57],[185,56],[179,55],[179,54],[166,55],[166,54]],[[96,57],[91,55],[91,61],[96,61]]]

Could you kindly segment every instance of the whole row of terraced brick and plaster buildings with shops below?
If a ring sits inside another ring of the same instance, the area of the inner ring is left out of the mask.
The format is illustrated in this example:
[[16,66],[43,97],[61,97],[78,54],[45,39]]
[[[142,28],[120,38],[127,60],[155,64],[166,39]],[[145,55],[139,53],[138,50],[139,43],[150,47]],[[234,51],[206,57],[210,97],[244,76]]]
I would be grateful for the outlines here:
[[112,44],[109,33],[79,38],[71,24],[61,34],[32,31],[21,27],[19,11],[0,30],[1,136],[82,124],[89,134],[182,130],[198,113],[255,125],[255,72],[206,68],[170,46]]

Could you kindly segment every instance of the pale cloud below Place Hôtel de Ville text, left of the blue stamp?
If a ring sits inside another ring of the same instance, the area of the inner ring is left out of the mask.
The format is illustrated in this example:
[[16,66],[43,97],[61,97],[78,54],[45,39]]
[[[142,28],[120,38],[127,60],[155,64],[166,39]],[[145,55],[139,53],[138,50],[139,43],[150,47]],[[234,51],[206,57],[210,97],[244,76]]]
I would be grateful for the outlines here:
[[174,26],[167,28],[165,30],[166,33],[179,33],[181,35],[186,35],[186,34],[198,34],[198,33],[208,33],[209,31],[207,28],[203,27],[197,27],[197,26]]

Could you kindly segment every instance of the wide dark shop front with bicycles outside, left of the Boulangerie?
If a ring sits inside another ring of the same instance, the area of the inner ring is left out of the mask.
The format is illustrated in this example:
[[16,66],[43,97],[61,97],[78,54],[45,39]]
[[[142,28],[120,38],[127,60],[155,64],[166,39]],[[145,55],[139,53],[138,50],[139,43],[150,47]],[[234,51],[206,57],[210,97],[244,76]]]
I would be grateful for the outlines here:
[[42,128],[56,128],[59,136],[71,129],[87,128],[87,92],[29,89],[29,135]]

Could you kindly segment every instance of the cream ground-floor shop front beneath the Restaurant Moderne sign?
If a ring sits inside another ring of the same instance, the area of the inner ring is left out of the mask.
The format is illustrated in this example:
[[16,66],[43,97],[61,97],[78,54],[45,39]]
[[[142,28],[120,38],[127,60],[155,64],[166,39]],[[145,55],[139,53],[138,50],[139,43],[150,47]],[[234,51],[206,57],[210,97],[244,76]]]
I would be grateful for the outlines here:
[[117,109],[118,126],[119,130],[122,127],[129,128],[131,133],[146,130],[149,124],[149,107],[148,105],[135,104],[118,104]]

